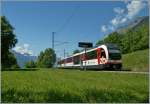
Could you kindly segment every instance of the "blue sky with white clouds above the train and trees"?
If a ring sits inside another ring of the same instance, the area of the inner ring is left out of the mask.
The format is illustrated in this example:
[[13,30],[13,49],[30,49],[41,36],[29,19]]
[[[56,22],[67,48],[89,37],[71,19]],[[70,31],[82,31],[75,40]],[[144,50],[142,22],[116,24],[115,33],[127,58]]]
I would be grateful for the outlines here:
[[132,1],[3,1],[1,15],[15,28],[19,53],[38,56],[52,47],[58,57],[71,55],[78,42],[96,44],[119,26],[148,16],[148,3]]

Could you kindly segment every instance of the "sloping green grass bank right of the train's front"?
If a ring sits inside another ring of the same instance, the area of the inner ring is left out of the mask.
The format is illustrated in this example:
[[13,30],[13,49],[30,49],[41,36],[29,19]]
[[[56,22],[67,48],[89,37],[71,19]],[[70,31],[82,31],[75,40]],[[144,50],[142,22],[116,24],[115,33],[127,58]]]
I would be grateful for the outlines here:
[[123,67],[132,71],[149,71],[149,49],[123,55]]

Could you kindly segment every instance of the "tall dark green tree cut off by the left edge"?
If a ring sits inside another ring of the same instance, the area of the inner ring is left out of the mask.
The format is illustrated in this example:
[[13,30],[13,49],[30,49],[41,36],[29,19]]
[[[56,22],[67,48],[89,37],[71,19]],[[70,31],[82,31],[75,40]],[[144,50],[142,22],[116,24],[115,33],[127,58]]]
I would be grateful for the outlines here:
[[[1,16],[1,63],[2,68],[10,68],[14,61],[15,57],[12,56],[12,53],[9,51],[17,43],[16,36],[13,32],[14,28],[7,21],[5,16]],[[13,59],[11,59],[13,58]],[[13,62],[12,62],[13,60]]]

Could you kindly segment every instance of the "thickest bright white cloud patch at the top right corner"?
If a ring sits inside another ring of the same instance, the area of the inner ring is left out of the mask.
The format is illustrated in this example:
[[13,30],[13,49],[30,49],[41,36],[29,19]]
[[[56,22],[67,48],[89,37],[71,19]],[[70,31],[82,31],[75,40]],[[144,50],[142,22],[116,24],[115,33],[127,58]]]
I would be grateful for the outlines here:
[[132,0],[127,4],[127,18],[132,19],[145,7],[145,5],[145,2],[143,2],[142,0]]

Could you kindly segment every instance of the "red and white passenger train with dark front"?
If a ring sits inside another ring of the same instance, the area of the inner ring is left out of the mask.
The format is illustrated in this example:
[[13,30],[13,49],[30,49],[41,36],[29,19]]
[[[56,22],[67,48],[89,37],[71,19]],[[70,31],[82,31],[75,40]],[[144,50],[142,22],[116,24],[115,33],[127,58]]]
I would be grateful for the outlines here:
[[61,59],[58,68],[122,69],[122,54],[116,44],[102,44]]

